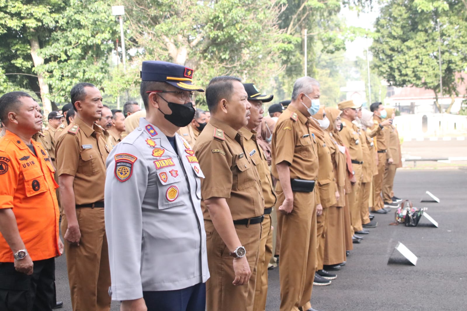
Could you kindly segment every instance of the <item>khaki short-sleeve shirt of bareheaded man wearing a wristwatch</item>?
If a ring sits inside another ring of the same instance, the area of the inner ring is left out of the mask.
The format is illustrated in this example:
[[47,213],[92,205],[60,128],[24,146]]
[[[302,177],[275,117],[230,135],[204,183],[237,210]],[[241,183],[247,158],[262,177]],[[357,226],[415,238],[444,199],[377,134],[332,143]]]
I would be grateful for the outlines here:
[[225,198],[233,220],[261,216],[264,200],[256,164],[243,135],[211,117],[193,148],[206,178],[201,181],[203,216],[211,220],[203,200]]

